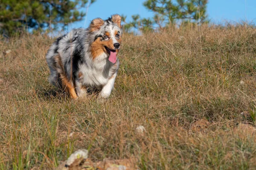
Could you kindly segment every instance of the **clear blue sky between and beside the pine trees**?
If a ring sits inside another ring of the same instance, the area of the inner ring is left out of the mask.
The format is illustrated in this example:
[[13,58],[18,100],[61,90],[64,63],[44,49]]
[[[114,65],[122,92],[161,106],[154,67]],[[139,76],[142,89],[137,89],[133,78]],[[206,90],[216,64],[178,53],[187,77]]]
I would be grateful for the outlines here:
[[[87,27],[96,17],[107,19],[111,14],[125,14],[127,20],[131,15],[140,14],[142,17],[152,17],[153,13],[142,5],[145,0],[96,0],[88,9],[83,21],[71,23],[72,28]],[[84,9],[86,11],[86,8]],[[256,22],[256,0],[209,0],[207,14],[213,23],[225,21],[239,22],[247,20]]]

